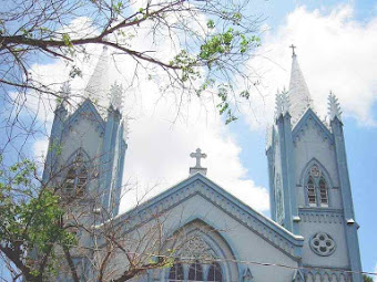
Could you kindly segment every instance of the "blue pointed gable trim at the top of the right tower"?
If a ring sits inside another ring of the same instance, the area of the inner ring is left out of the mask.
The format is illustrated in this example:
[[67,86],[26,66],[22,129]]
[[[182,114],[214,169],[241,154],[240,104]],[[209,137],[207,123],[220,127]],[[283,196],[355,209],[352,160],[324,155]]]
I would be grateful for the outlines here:
[[305,134],[309,125],[313,125],[317,129],[317,132],[323,136],[324,140],[328,140],[330,144],[334,143],[333,134],[310,107],[306,109],[305,114],[300,117],[292,130],[294,143]]

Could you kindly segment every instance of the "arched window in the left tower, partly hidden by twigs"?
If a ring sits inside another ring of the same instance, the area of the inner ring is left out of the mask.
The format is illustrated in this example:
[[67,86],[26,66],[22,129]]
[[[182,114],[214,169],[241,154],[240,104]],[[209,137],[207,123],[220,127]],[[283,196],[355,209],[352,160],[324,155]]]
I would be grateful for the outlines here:
[[72,167],[68,170],[64,194],[67,196],[83,197],[86,189],[88,170],[85,167]]

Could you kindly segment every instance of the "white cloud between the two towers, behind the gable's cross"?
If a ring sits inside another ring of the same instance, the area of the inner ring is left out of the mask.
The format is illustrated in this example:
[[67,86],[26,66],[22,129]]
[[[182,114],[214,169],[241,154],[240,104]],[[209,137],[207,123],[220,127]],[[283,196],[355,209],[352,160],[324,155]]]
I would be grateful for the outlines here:
[[[201,147],[207,154],[202,164],[211,179],[255,209],[268,209],[266,188],[246,178],[242,149],[215,108],[193,98],[184,101],[177,114],[176,94],[161,97],[159,86],[149,81],[134,91],[139,94],[130,91],[125,97],[125,112],[135,118],[130,121],[124,182],[136,182],[139,197],[147,192],[150,198],[186,178],[195,164],[190,153]],[[122,209],[135,205],[135,191],[129,191]]]

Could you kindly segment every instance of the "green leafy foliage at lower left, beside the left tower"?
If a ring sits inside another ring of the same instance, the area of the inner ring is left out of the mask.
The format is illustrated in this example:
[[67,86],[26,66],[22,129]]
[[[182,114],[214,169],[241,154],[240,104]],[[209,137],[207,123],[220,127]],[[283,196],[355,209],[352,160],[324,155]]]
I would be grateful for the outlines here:
[[6,168],[1,159],[1,167],[0,250],[28,280],[38,281],[54,271],[52,247],[69,247],[75,238],[63,229],[59,197],[50,188],[40,188],[33,161],[24,159]]

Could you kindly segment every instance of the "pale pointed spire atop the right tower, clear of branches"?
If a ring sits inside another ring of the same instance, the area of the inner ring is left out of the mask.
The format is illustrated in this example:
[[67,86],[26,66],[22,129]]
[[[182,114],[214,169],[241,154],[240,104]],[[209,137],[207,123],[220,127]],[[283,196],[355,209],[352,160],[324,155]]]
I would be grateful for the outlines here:
[[289,98],[291,98],[291,116],[295,122],[297,121],[305,109],[310,106],[310,93],[307,88],[304,75],[299,69],[297,62],[297,55],[295,53],[294,45],[291,45],[293,50],[292,54],[292,70],[291,70],[291,82],[289,82]]

